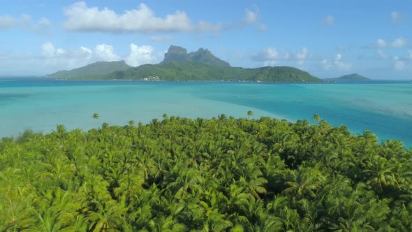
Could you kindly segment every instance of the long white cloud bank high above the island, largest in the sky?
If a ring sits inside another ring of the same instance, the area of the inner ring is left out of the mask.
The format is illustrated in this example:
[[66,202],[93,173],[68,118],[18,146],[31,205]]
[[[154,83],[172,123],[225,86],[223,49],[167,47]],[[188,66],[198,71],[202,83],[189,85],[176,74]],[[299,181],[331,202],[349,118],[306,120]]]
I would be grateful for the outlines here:
[[71,31],[155,33],[215,31],[220,28],[219,24],[211,22],[194,25],[183,11],[156,17],[154,11],[144,3],[140,3],[137,9],[126,10],[119,15],[109,8],[100,10],[79,1],[66,8],[64,14],[67,17],[64,27]]

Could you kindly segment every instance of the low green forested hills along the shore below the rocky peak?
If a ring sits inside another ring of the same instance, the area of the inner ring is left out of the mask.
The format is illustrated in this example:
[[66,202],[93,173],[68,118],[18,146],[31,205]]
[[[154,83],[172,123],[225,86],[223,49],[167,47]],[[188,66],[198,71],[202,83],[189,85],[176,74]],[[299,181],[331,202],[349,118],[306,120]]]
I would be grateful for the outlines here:
[[297,68],[288,66],[236,68],[198,62],[170,61],[144,64],[124,71],[101,75],[105,80],[160,80],[160,81],[247,81],[247,82],[322,82],[323,80]]

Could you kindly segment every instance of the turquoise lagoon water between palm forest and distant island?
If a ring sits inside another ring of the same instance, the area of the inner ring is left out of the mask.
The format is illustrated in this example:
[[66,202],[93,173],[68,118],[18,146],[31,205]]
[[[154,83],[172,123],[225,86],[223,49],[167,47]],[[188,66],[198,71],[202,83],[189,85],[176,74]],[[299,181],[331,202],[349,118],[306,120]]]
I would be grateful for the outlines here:
[[[412,146],[412,83],[279,84],[234,82],[56,81],[0,79],[0,137],[24,129],[49,133],[57,124],[91,129],[103,122],[149,123],[163,113],[180,117],[277,117],[295,121],[321,115],[353,133]],[[99,119],[91,115],[98,113]],[[313,121],[311,121],[313,122]]]

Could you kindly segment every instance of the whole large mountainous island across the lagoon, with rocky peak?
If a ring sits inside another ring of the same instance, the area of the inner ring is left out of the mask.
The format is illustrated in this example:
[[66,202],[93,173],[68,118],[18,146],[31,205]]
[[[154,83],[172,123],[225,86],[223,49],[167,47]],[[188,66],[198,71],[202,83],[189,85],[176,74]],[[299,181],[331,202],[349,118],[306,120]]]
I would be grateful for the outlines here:
[[207,49],[188,53],[185,48],[175,45],[170,46],[160,64],[131,67],[124,61],[100,61],[71,71],[58,71],[47,77],[72,80],[323,82],[289,66],[231,67]]

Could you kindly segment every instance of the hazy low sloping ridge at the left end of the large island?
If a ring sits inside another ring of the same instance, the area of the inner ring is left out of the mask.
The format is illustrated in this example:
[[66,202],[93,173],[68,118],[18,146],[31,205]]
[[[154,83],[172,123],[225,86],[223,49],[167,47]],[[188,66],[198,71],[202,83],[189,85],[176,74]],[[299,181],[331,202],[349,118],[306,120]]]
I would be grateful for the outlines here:
[[57,71],[47,75],[50,78],[77,78],[82,77],[90,79],[92,76],[105,75],[114,71],[122,71],[131,68],[124,61],[98,61],[93,64],[80,68],[73,68],[71,71]]

